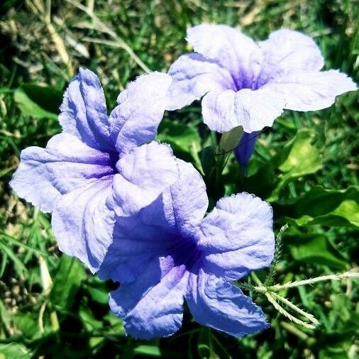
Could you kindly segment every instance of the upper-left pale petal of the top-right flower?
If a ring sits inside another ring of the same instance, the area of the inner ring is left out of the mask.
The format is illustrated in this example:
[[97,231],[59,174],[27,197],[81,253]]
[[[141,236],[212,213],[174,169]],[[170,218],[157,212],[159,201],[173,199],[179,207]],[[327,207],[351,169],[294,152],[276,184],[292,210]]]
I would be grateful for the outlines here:
[[258,45],[226,25],[201,24],[187,30],[194,51],[227,69],[237,89],[252,88],[262,62]]

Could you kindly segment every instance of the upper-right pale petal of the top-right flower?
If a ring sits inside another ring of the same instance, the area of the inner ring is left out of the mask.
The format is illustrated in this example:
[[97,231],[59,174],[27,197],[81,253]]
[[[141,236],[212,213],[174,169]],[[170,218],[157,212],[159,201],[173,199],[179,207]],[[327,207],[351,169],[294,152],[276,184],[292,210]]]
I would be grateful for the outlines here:
[[288,72],[319,71],[324,66],[321,50],[312,38],[289,29],[273,31],[259,44],[263,53],[263,68],[258,84]]

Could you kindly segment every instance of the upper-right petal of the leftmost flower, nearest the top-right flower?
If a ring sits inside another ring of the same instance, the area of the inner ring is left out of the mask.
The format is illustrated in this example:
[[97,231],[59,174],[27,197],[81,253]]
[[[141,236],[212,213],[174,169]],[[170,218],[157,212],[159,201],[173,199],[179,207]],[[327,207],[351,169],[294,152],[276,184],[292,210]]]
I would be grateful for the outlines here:
[[111,138],[120,155],[155,139],[171,82],[168,74],[150,72],[130,82],[118,95],[110,121]]

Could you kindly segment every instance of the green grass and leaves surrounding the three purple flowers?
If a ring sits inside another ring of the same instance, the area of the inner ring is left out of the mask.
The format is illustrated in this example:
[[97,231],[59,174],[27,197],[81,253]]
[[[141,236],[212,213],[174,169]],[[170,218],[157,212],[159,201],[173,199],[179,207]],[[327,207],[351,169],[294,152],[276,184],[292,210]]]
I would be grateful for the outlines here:
[[[18,199],[8,185],[21,150],[45,146],[60,131],[57,107],[79,66],[99,75],[111,108],[131,79],[146,68],[166,71],[190,50],[184,40],[188,26],[214,22],[241,28],[258,40],[281,27],[303,31],[319,44],[326,68],[341,69],[358,82],[357,1],[5,0],[0,9],[0,358],[351,359],[358,355],[355,280],[321,282],[281,293],[316,316],[321,325],[315,330],[293,324],[265,297],[252,293],[271,324],[263,333],[230,338],[195,324],[186,313],[181,331],[171,338],[150,342],[128,338],[107,304],[107,293],[116,285],[101,282],[77,260],[61,255],[50,216]],[[315,186],[336,191],[358,185],[357,106],[358,96],[352,93],[318,113],[288,111],[260,136],[244,183],[238,180],[232,157],[220,177],[228,194],[247,189],[271,200],[276,230],[289,223],[275,266],[275,283],[357,266],[358,226],[350,211],[357,208],[352,203],[355,197],[350,197],[354,194],[345,198],[331,194],[320,203],[306,198]],[[168,127],[161,130],[179,157],[198,165],[196,156],[200,158],[203,148],[216,140],[201,123],[199,104],[165,117],[185,126],[189,138],[198,138],[191,152]],[[289,180],[278,184],[273,179],[283,175],[280,165],[292,148],[290,141],[299,138],[298,131],[300,136],[308,134],[299,145],[311,150],[313,168],[302,169],[299,176],[289,171]],[[206,181],[210,188],[211,179]],[[211,195],[213,200],[217,196]],[[335,202],[338,196],[340,203]],[[299,205],[292,202],[301,197],[308,208],[303,205],[299,213]],[[328,201],[333,210],[340,207],[335,223],[333,214],[330,218],[321,214],[326,222],[316,219]],[[303,214],[318,223],[303,225],[299,220],[304,221]],[[257,275],[264,279],[265,272]]]

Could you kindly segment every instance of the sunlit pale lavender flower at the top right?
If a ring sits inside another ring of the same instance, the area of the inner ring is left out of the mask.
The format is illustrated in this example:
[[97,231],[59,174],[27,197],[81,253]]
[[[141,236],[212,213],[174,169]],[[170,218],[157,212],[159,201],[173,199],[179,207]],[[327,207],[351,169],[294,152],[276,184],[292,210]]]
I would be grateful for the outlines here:
[[338,70],[320,71],[318,46],[297,31],[274,31],[255,43],[234,28],[202,24],[189,28],[194,53],[170,67],[170,105],[180,109],[202,96],[204,123],[213,131],[243,126],[247,133],[272,126],[283,109],[316,111],[356,89]]

